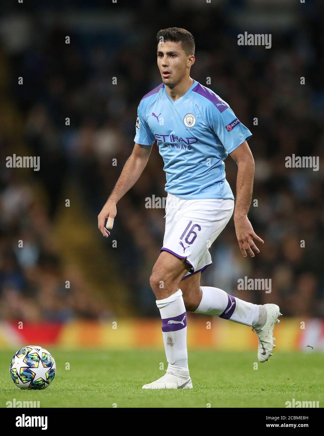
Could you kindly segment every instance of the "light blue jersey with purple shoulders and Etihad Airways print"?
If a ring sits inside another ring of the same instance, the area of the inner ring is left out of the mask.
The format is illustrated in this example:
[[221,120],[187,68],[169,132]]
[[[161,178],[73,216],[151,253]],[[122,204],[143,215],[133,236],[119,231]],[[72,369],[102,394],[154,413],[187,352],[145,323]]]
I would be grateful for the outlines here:
[[251,136],[229,105],[195,80],[175,102],[164,83],[146,94],[138,106],[134,141],[157,141],[170,194],[233,200],[224,160]]

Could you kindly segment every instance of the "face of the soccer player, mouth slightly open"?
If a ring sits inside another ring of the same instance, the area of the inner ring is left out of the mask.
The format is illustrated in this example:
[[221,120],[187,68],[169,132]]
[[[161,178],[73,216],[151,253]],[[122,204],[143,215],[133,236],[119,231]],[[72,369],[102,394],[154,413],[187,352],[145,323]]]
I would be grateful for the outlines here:
[[165,85],[173,88],[189,75],[194,56],[187,56],[181,42],[165,41],[158,45],[158,67]]

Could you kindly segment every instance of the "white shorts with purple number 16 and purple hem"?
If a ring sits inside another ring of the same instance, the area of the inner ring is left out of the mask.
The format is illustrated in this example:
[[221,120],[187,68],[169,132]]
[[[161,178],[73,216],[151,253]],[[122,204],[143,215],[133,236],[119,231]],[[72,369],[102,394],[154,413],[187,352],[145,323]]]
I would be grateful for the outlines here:
[[231,199],[186,200],[168,193],[161,251],[186,259],[191,269],[183,279],[213,263],[208,249],[225,228],[233,210]]

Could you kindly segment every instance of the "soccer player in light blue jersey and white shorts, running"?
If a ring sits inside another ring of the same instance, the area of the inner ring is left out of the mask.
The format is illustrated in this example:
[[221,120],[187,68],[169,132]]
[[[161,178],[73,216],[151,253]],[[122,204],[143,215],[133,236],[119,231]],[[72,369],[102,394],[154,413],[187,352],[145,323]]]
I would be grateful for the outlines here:
[[254,252],[260,252],[254,240],[263,244],[247,218],[254,160],[246,141],[252,134],[225,101],[190,77],[195,41],[189,31],[161,30],[157,43],[162,83],[139,103],[135,146],[98,215],[98,228],[104,236],[110,235],[105,219],[115,218],[118,200],[138,180],[157,141],[168,196],[163,246],[150,284],[162,318],[168,368],[143,388],[190,389],[186,311],[252,327],[258,335],[260,362],[272,355],[273,329],[281,314],[276,304],[256,305],[219,288],[200,286],[200,274],[211,264],[208,248],[234,210],[233,193],[225,178],[228,154],[238,167],[234,223],[240,250],[243,256],[254,257]]

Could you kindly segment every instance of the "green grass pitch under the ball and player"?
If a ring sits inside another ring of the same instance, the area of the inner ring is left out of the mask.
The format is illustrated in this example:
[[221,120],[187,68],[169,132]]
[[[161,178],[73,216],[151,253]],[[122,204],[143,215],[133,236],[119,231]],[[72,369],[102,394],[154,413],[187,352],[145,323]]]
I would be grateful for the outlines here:
[[[41,407],[280,407],[286,401],[324,404],[324,354],[276,352],[258,362],[256,352],[189,350],[193,389],[143,390],[161,377],[163,350],[64,350],[50,347],[57,365],[44,391],[22,391],[10,378],[17,350],[0,356],[0,407],[7,401],[40,401]],[[69,362],[70,369],[65,369]]]

